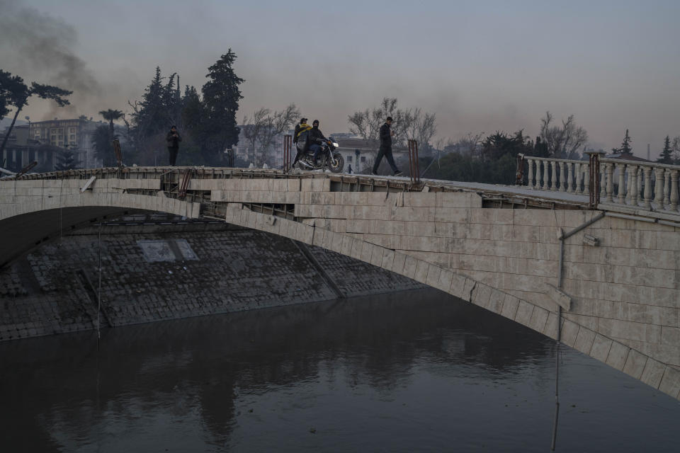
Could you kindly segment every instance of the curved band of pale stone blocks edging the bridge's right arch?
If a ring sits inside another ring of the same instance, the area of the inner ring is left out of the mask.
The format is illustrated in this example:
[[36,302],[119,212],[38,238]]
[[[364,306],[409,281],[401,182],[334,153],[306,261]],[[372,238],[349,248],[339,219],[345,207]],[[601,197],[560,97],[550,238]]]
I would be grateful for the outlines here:
[[[558,316],[555,311],[548,311],[532,302],[406,253],[384,248],[348,234],[318,228],[314,223],[294,222],[245,210],[238,205],[229,207],[226,221],[351,256],[440,289],[550,338],[557,338]],[[560,340],[563,344],[678,398],[674,382],[680,376],[680,372],[674,367],[569,319],[562,318],[560,328]]]

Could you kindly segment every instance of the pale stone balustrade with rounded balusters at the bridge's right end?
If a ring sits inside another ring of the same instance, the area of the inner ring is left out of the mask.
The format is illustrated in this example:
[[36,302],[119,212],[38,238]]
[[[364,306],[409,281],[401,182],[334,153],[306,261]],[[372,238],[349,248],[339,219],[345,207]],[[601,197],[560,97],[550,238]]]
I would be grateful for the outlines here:
[[594,188],[599,188],[595,195],[599,195],[601,203],[680,213],[680,166],[596,156],[599,172],[596,180],[591,180],[589,161],[536,156],[527,156],[525,160],[528,169],[523,183],[534,190],[589,196]]

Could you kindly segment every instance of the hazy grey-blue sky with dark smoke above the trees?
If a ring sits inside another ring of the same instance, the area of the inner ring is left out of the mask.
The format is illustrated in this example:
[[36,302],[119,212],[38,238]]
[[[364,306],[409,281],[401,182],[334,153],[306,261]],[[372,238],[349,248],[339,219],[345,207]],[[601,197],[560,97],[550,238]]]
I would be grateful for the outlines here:
[[[575,115],[590,143],[658,154],[680,135],[679,0],[0,0],[0,69],[77,91],[60,117],[129,111],[156,66],[200,89],[237,53],[239,112],[296,103],[326,133],[397,97],[438,137],[536,135]],[[33,101],[26,114],[51,107]],[[24,113],[21,114],[23,117]]]

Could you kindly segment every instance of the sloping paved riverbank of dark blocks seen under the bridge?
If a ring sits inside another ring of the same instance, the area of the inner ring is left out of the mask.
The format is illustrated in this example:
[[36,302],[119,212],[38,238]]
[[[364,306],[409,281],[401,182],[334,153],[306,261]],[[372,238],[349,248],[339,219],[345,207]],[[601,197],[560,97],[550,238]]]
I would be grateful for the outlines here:
[[422,287],[262,231],[155,220],[74,231],[1,269],[0,341]]

